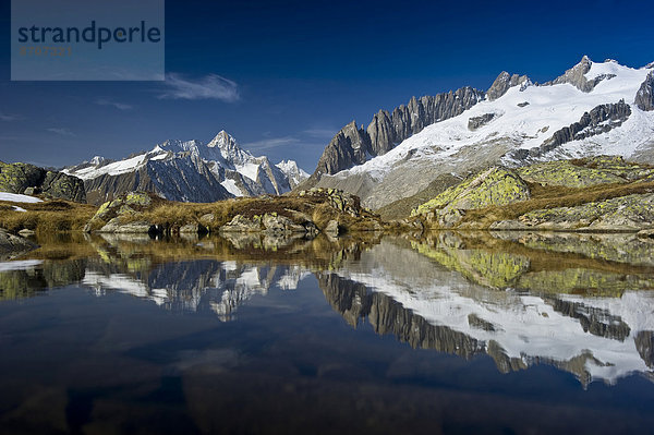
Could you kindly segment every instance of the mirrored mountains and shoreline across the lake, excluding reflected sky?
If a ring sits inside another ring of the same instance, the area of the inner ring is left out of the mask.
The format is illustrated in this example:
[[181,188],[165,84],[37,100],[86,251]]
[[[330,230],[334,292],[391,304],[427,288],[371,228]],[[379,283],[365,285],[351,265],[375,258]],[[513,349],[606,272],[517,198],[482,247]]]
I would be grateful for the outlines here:
[[435,233],[422,238],[45,243],[0,268],[0,298],[80,285],[232,321],[271,286],[313,275],[352,327],[502,372],[549,364],[615,384],[654,368],[654,244],[635,235]]

